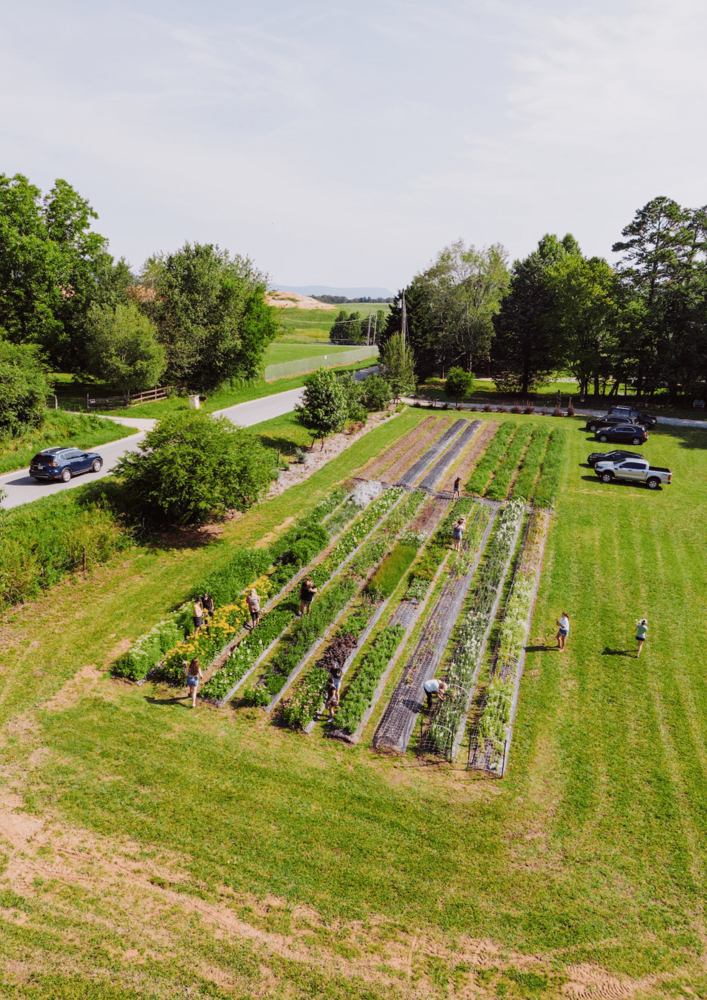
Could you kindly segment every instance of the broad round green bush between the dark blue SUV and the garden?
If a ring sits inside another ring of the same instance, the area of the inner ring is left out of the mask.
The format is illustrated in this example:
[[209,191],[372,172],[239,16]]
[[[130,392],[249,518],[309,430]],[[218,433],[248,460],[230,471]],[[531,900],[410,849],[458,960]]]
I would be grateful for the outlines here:
[[247,510],[276,478],[275,466],[256,434],[225,417],[182,410],[148,431],[115,474],[132,516],[164,528]]

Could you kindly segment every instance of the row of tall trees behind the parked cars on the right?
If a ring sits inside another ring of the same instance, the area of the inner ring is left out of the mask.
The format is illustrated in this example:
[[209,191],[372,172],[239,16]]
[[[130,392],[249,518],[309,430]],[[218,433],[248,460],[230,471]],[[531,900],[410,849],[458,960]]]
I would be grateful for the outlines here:
[[402,330],[404,308],[418,380],[487,369],[524,397],[569,372],[582,395],[704,396],[707,208],[654,198],[621,235],[614,266],[569,233],[512,267],[500,244],[452,243],[398,293],[380,339]]

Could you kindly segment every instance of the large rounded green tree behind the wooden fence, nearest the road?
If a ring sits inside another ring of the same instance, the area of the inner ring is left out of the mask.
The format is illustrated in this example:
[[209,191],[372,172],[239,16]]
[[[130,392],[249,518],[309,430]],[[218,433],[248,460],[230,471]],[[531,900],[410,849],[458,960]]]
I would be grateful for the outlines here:
[[157,326],[168,377],[190,391],[254,378],[277,336],[266,278],[252,261],[212,244],[151,258],[142,272],[143,309]]

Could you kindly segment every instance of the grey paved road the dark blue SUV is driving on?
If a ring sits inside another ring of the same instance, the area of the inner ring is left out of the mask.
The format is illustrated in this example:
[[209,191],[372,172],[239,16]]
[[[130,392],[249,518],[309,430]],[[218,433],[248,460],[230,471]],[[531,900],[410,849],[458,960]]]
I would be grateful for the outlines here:
[[[253,399],[248,403],[239,403],[237,406],[229,406],[225,410],[217,410],[214,416],[228,417],[234,424],[241,427],[251,427],[259,424],[263,420],[272,420],[273,417],[280,417],[283,413],[294,410],[295,403],[300,401],[301,389],[289,389],[287,392],[278,392],[272,396],[263,396],[262,399]],[[38,500],[50,493],[58,493],[60,490],[75,489],[83,486],[86,482],[94,479],[101,479],[111,473],[114,465],[126,452],[135,451],[140,442],[145,437],[145,431],[151,430],[156,420],[136,419],[135,417],[114,416],[107,417],[118,424],[125,424],[134,427],[137,433],[131,437],[121,438],[120,441],[111,441],[109,444],[102,444],[96,451],[103,458],[103,468],[96,475],[88,472],[83,476],[76,476],[68,483],[38,483],[28,476],[26,472],[8,472],[0,476],[0,489],[4,490],[7,496],[2,500],[2,506],[6,509],[17,507],[21,503],[30,503]]]

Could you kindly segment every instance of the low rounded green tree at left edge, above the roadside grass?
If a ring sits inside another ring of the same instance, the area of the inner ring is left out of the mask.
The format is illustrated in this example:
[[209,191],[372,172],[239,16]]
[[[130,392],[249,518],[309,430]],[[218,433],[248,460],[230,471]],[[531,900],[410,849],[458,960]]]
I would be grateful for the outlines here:
[[0,340],[0,434],[41,427],[48,393],[49,382],[37,348]]

